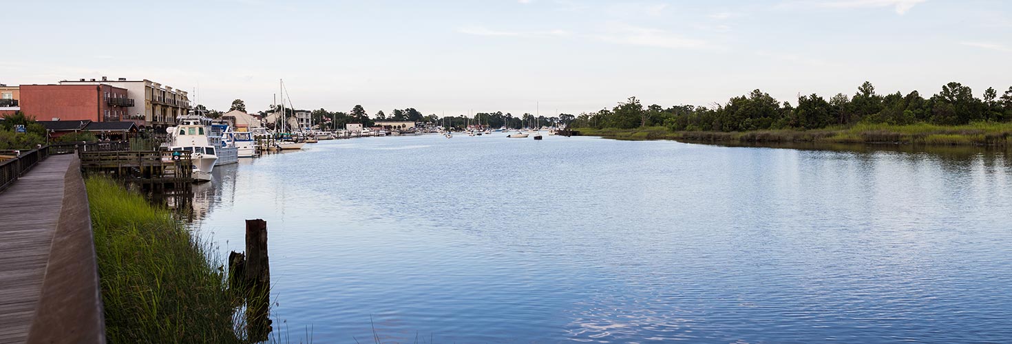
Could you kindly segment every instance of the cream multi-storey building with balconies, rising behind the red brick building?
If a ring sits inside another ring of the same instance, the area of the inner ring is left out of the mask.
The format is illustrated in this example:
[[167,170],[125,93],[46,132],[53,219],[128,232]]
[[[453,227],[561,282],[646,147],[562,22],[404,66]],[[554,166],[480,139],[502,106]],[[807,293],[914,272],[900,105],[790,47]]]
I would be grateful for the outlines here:
[[190,110],[189,95],[186,91],[142,79],[126,80],[118,78],[108,80],[79,79],[77,81],[61,81],[61,85],[110,85],[126,89],[128,98],[137,99],[137,106],[132,108],[130,120],[135,120],[142,130],[151,130],[154,134],[165,134],[165,128],[176,124],[176,117]]

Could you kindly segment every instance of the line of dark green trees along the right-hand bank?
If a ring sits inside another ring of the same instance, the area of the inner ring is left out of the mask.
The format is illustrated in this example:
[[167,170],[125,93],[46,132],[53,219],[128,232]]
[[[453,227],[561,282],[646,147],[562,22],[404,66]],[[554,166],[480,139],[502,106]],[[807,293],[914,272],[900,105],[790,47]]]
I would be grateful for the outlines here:
[[710,107],[675,105],[644,106],[630,97],[611,109],[585,112],[573,120],[574,127],[634,128],[663,125],[672,131],[747,132],[760,130],[813,130],[855,123],[958,125],[975,121],[1012,120],[1012,87],[1000,97],[994,88],[974,96],[968,86],[950,82],[925,98],[918,91],[875,93],[865,81],[853,96],[838,93],[829,99],[818,94],[802,95],[796,106],[780,102],[768,93],[754,90]]

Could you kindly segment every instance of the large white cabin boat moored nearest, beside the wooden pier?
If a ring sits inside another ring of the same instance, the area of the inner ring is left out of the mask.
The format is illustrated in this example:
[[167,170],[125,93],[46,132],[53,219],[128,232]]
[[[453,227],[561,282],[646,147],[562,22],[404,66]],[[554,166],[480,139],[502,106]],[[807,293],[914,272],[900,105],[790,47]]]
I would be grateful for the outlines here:
[[210,181],[210,172],[218,161],[218,147],[207,139],[210,134],[210,118],[191,113],[179,116],[176,122],[179,124],[166,128],[171,141],[169,149],[192,152],[190,159],[193,162],[193,180]]

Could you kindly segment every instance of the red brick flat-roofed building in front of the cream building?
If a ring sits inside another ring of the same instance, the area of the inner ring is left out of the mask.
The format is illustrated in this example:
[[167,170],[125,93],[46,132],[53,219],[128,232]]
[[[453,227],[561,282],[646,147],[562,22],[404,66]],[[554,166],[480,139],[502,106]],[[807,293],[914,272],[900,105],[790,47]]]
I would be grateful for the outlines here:
[[21,85],[18,102],[35,120],[138,120],[126,89],[109,85]]

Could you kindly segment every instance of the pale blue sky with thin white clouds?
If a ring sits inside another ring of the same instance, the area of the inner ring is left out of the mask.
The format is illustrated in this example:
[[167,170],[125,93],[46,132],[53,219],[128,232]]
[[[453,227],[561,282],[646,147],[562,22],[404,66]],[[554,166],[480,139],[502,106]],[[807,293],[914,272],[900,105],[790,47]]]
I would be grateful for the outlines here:
[[208,108],[580,113],[636,96],[1012,86],[1012,1],[15,1],[0,83],[149,79]]

